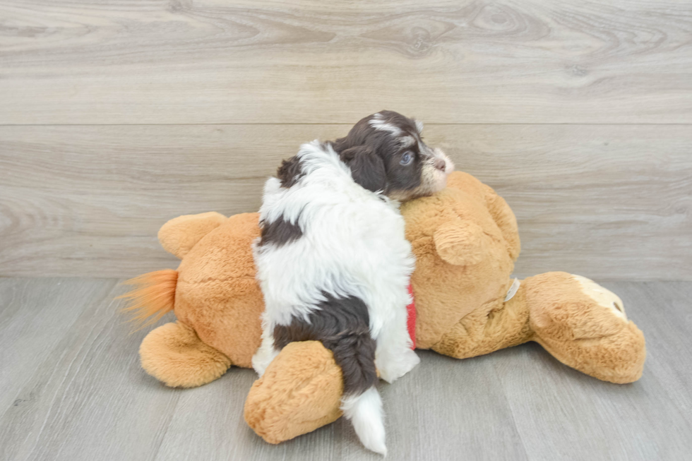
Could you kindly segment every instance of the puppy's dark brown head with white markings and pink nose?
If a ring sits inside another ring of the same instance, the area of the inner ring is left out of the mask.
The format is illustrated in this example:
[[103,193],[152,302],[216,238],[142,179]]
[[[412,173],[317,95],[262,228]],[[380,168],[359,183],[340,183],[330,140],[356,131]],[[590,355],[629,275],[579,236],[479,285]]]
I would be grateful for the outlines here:
[[360,120],[333,148],[357,184],[410,200],[441,191],[454,169],[444,152],[423,142],[422,130],[421,122],[383,110]]

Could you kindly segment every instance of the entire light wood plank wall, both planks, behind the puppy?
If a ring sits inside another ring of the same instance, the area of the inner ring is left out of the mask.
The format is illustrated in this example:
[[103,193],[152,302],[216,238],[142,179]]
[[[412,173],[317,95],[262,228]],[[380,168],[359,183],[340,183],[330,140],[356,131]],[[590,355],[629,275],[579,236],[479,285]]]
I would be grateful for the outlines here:
[[692,4],[0,0],[0,275],[175,267],[299,143],[416,116],[496,188],[517,273],[692,280]]

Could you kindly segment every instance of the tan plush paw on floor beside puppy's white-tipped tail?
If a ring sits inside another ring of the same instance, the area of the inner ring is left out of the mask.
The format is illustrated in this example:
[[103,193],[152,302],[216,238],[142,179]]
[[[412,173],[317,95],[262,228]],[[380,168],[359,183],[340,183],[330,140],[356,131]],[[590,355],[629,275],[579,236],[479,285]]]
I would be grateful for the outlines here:
[[321,342],[291,342],[252,385],[245,421],[268,443],[280,443],[338,419],[343,383]]

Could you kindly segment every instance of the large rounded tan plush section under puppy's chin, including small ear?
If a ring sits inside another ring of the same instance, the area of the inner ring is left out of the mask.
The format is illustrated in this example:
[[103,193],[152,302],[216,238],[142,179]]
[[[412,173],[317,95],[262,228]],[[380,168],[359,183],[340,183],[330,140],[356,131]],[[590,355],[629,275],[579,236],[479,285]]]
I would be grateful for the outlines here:
[[404,203],[401,211],[416,255],[416,342],[426,349],[467,313],[505,296],[519,237],[504,200],[463,172],[453,172],[440,193]]

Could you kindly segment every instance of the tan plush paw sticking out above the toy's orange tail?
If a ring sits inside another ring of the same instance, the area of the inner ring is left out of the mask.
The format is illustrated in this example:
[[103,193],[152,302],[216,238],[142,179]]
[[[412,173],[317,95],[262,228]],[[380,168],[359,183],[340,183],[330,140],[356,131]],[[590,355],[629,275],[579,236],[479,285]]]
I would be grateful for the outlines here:
[[202,237],[227,219],[215,211],[174,217],[159,229],[159,241],[166,251],[182,259]]

